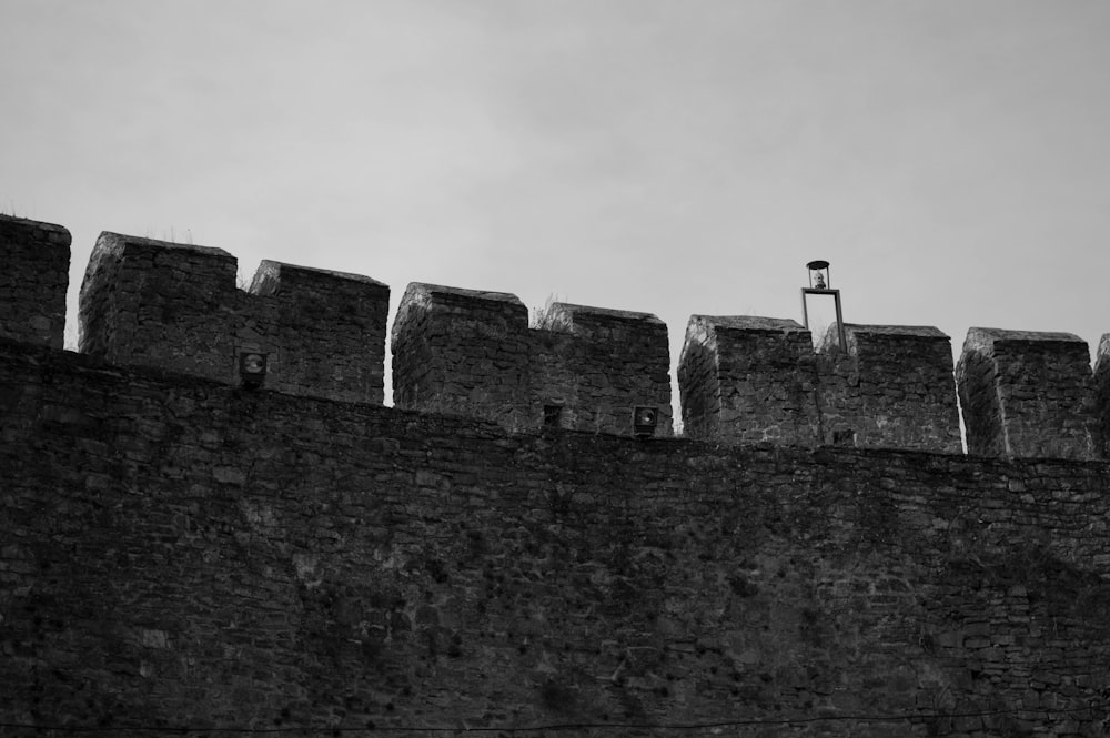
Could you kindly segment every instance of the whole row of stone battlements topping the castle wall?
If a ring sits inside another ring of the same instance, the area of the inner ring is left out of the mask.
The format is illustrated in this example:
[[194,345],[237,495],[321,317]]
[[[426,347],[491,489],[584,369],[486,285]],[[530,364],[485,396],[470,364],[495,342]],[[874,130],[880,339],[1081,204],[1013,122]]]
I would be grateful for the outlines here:
[[[69,232],[0,216],[0,336],[59,348]],[[390,287],[263,261],[246,290],[221,250],[100,235],[80,294],[80,351],[226,384],[381,404]],[[858,446],[1110,458],[1110,334],[1093,371],[1067,333],[975,327],[952,365],[935,327],[844,326],[815,351],[793,320],[694,315],[677,374],[686,434],[724,444]],[[668,437],[666,324],[571,303],[529,326],[521,300],[412,283],[393,322],[397,407],[544,427]],[[243,362],[264,363],[262,378]],[[647,412],[642,416],[643,411]],[[655,426],[637,425],[655,416]]]

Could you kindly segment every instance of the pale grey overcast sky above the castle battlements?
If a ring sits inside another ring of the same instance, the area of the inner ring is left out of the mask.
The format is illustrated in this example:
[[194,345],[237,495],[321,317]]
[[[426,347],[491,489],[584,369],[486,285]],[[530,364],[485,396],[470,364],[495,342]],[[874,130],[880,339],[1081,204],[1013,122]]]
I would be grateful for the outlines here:
[[[1106,0],[0,0],[0,210],[408,282],[1110,332]],[[70,328],[71,336],[74,330]],[[677,394],[677,387],[675,388]]]

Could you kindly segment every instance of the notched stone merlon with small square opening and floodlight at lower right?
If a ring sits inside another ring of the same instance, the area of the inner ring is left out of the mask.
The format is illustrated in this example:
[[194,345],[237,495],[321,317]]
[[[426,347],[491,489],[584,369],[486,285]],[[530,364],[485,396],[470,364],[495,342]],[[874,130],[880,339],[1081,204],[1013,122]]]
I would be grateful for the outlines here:
[[528,327],[516,295],[408,285],[393,323],[398,407],[628,435],[633,410],[672,434],[667,326],[647,313],[555,303],[558,330]]

